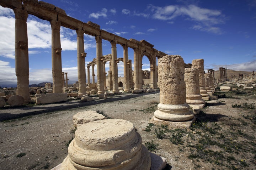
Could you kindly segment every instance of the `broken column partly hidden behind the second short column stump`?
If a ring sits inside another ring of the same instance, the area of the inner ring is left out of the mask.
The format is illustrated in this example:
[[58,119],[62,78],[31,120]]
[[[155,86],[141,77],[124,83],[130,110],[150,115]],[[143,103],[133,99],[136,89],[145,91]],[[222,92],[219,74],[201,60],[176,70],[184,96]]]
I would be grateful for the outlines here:
[[200,85],[200,94],[202,95],[203,100],[209,100],[209,94],[205,89],[205,80],[204,80],[204,60],[196,59],[192,61],[192,67],[198,69],[199,73],[199,85]]

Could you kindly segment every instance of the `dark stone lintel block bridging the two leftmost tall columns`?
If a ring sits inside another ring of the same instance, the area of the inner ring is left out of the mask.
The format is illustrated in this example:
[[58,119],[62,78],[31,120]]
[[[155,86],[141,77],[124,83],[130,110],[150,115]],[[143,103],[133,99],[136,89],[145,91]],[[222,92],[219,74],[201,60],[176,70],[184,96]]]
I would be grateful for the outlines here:
[[51,8],[47,8],[29,0],[23,0],[23,7],[24,10],[28,12],[28,14],[34,15],[47,21],[58,21],[58,12]]

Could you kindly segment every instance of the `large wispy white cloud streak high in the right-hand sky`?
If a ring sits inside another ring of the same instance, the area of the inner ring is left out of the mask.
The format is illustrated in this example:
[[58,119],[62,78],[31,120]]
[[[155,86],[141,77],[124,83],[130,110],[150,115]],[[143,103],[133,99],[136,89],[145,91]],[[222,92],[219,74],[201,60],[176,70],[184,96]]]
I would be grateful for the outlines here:
[[210,32],[214,34],[222,34],[222,30],[216,27],[216,24],[224,23],[224,15],[219,10],[211,10],[207,8],[201,8],[196,5],[180,6],[169,5],[164,7],[148,5],[148,9],[153,12],[153,18],[168,21],[173,23],[173,20],[177,17],[187,17],[191,21],[196,22],[191,28],[194,30],[200,30],[204,32]]

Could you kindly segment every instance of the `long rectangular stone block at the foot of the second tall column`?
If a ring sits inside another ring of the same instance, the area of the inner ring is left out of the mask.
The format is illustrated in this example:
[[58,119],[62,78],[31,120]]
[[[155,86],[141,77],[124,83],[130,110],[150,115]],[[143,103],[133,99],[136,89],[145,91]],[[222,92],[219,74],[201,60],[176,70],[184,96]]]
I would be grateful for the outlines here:
[[36,94],[36,104],[46,104],[68,101],[66,93]]

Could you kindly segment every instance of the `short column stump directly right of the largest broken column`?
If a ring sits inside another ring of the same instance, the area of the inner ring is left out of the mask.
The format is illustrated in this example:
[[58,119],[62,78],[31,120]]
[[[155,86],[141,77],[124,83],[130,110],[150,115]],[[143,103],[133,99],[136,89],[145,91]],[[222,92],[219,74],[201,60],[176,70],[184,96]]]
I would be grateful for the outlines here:
[[186,102],[192,108],[203,108],[205,101],[200,95],[199,73],[196,68],[185,68],[184,81],[186,83]]

